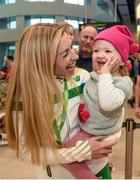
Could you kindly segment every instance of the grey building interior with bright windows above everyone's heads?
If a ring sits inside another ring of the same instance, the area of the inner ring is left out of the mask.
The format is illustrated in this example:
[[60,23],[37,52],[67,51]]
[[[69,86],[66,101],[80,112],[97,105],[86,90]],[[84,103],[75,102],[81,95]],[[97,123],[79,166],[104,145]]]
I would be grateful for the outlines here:
[[65,21],[76,30],[78,46],[81,24],[91,23],[103,30],[113,24],[125,24],[138,41],[139,0],[0,0],[0,67],[6,55],[14,55],[23,29],[38,22]]

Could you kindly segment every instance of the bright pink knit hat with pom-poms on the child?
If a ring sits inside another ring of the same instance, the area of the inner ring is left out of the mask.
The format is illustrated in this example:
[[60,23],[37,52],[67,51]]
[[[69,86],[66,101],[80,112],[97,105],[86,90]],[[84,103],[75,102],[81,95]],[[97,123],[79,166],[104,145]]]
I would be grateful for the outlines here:
[[130,70],[131,64],[128,60],[129,55],[136,53],[139,50],[139,45],[134,42],[134,38],[130,30],[126,26],[115,25],[98,33],[94,42],[101,39],[109,41],[114,45],[122,56],[126,67]]

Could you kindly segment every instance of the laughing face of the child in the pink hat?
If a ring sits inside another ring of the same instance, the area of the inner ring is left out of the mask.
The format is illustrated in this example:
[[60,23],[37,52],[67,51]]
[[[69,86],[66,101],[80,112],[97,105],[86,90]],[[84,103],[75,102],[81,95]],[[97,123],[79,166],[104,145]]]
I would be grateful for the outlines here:
[[[118,58],[120,65],[124,65],[123,60],[117,49],[108,41],[97,40],[93,45],[92,64],[94,71],[99,71],[110,59]],[[118,69],[119,71],[119,69]]]

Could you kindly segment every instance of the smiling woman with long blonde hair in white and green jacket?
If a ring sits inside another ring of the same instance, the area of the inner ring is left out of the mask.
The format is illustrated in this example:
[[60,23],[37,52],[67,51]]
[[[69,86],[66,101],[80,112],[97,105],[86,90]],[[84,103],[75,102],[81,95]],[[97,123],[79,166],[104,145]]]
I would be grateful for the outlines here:
[[24,161],[47,167],[46,178],[72,178],[59,164],[104,157],[116,143],[95,137],[63,148],[80,131],[77,109],[89,79],[88,72],[75,69],[78,56],[71,44],[57,25],[25,29],[7,93],[8,143]]

